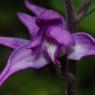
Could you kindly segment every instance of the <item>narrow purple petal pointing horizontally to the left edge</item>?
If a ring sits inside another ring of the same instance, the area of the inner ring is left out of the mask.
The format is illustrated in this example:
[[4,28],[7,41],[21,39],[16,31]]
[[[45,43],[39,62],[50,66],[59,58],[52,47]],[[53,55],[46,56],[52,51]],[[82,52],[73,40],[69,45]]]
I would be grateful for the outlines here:
[[29,40],[12,37],[0,37],[0,45],[4,45],[13,49],[16,49],[26,43],[29,43]]

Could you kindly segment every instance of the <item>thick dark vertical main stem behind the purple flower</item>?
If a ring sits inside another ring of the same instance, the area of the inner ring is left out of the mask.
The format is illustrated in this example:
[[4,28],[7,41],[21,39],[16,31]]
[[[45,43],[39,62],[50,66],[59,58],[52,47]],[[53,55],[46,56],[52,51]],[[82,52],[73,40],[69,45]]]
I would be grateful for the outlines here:
[[[72,5],[72,0],[64,0],[67,13],[68,28],[71,33],[75,33],[76,29],[76,19],[75,13]],[[68,60],[66,62],[66,76],[68,80],[66,83],[66,95],[76,95],[76,61]]]

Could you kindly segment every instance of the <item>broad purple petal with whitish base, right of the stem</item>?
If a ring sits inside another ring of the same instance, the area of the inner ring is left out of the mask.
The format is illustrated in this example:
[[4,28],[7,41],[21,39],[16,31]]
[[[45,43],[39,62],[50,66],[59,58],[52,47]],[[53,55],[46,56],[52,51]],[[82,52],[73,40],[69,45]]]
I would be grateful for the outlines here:
[[95,38],[87,33],[73,34],[76,45],[70,49],[68,58],[81,60],[86,56],[95,55]]

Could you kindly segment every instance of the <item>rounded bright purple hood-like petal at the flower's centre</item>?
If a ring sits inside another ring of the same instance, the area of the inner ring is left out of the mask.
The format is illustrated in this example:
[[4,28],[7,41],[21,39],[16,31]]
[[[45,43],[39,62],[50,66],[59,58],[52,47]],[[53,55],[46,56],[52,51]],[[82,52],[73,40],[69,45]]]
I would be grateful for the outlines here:
[[48,31],[50,36],[61,45],[70,46],[75,43],[70,32],[60,26],[52,26]]

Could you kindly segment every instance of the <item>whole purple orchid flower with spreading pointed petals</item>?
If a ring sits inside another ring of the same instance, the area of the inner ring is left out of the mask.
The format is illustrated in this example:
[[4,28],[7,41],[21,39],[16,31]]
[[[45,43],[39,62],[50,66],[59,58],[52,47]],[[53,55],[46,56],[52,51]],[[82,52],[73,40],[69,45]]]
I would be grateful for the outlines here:
[[68,59],[80,60],[95,55],[95,39],[87,33],[71,34],[63,16],[25,0],[26,7],[35,16],[18,13],[28,28],[31,39],[0,37],[0,44],[13,49],[4,70],[0,85],[12,74],[27,68],[41,68],[52,61],[60,66],[58,57],[67,53]]

